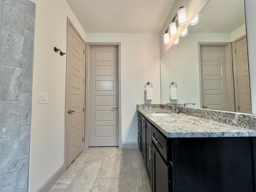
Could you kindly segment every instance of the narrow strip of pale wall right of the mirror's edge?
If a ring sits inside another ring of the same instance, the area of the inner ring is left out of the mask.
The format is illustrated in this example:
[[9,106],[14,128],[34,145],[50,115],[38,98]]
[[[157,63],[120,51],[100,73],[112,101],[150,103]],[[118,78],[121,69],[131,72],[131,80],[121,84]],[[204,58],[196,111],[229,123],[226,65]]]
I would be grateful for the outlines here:
[[256,1],[244,1],[252,114],[256,114]]

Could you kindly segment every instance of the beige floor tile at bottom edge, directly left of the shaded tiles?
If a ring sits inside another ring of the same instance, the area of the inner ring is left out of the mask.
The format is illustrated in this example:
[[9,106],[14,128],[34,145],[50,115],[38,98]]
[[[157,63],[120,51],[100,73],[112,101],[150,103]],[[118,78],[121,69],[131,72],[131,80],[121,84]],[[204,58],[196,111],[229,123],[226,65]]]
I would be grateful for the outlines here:
[[92,192],[118,192],[119,178],[97,178]]

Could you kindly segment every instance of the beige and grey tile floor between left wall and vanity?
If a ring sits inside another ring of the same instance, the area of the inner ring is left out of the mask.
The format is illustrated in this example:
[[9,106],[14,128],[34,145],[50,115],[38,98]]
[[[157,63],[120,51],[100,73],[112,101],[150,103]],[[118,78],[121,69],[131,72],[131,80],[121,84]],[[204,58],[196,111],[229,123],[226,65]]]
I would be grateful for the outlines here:
[[90,147],[82,151],[50,192],[151,192],[138,149]]

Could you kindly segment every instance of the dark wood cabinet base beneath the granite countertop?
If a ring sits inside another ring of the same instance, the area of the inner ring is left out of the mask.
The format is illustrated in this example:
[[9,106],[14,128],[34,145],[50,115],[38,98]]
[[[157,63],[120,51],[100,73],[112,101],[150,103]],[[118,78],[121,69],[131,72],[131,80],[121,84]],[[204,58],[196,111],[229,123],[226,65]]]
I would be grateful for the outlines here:
[[256,137],[167,138],[140,122],[152,192],[256,192]]

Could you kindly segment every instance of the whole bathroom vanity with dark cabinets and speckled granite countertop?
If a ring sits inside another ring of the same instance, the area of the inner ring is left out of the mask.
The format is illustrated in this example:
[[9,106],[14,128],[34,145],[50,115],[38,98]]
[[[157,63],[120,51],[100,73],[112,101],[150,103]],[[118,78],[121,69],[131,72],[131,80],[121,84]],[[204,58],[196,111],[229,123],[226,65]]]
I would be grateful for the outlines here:
[[138,106],[138,144],[152,192],[255,191],[255,137],[254,127]]

